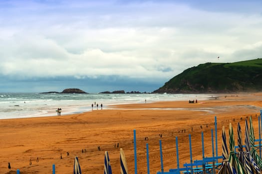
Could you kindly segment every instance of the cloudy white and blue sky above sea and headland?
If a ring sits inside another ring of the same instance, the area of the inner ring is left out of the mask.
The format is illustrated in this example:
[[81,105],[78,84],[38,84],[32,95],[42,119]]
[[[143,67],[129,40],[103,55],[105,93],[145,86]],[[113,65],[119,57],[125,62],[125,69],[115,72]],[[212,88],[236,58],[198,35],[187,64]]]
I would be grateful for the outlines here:
[[0,92],[151,92],[256,58],[261,0],[0,0]]

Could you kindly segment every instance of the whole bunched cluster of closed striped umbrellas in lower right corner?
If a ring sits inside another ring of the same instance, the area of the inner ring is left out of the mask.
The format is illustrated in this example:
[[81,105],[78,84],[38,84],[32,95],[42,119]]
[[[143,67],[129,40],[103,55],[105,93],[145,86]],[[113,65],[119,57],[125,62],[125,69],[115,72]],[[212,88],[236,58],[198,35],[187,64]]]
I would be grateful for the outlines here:
[[231,123],[229,124],[229,149],[227,146],[227,137],[225,127],[222,130],[222,167],[218,174],[260,174],[262,171],[262,159],[255,147],[255,135],[250,117],[250,127],[248,121],[245,122],[245,148],[243,149],[242,131],[238,123],[238,153],[235,153],[235,139]]

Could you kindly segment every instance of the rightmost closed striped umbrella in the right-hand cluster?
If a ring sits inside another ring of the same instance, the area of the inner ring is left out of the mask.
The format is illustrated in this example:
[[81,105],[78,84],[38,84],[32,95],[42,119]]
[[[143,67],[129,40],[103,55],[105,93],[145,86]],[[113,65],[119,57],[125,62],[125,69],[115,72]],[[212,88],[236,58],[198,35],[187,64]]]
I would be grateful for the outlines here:
[[262,170],[262,160],[255,149],[255,135],[254,135],[254,128],[252,124],[252,118],[250,117],[250,154],[252,158],[256,161],[256,164],[259,166],[260,171]]

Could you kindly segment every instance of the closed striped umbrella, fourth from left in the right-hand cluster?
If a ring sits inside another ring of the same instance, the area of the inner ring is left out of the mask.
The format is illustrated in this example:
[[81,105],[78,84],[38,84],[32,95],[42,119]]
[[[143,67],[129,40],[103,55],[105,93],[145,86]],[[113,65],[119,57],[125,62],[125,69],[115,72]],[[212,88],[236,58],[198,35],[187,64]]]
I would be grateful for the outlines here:
[[251,156],[251,145],[250,145],[250,131],[249,131],[249,125],[248,125],[248,121],[246,120],[246,126],[245,126],[245,145],[246,145],[246,155],[250,161],[250,163],[252,164],[253,168],[252,171],[254,174],[260,174],[260,168],[257,165],[257,162],[253,159],[253,157]]

